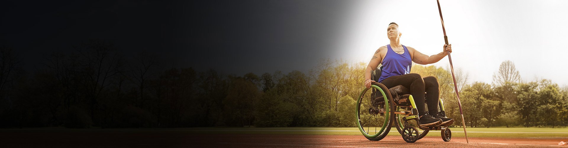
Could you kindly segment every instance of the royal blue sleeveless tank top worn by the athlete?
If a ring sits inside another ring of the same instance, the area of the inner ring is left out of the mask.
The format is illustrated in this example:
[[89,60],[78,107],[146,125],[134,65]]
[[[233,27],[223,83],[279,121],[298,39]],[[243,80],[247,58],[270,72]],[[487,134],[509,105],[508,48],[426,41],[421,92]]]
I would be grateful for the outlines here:
[[410,73],[412,59],[406,46],[402,47],[404,48],[404,54],[397,54],[392,51],[390,44],[387,45],[387,54],[385,55],[385,59],[383,59],[379,82],[382,82],[390,76],[400,76]]

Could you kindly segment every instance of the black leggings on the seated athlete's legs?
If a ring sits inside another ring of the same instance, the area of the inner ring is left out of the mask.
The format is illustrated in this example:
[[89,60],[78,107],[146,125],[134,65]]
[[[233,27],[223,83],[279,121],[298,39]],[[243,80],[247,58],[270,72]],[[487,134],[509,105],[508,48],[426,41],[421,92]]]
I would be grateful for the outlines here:
[[420,114],[426,111],[424,106],[424,92],[425,98],[428,102],[428,112],[438,112],[438,97],[440,95],[440,86],[436,77],[427,76],[421,77],[418,73],[408,73],[400,76],[390,76],[381,82],[387,88],[395,87],[396,85],[403,85],[410,89],[410,94],[415,98],[416,109]]

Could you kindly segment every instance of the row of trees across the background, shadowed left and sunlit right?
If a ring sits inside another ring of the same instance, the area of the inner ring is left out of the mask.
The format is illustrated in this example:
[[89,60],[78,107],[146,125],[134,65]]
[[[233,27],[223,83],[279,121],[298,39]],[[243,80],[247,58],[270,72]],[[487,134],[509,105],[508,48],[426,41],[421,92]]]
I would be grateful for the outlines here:
[[[306,73],[237,76],[164,68],[144,52],[128,59],[102,41],[74,48],[48,55],[46,68],[27,73],[12,48],[1,47],[0,127],[354,127],[356,98],[364,88],[366,63],[328,59]],[[514,64],[506,62],[492,84],[470,84],[457,69],[466,125],[568,125],[568,88],[546,79],[520,81]],[[415,64],[412,72],[437,77],[446,113],[461,125],[448,68]]]

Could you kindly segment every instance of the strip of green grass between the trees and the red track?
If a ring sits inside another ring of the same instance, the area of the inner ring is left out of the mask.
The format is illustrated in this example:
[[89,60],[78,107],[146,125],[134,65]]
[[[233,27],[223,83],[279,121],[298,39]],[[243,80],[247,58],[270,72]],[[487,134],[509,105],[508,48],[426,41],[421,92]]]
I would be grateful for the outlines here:
[[[464,137],[463,128],[450,128],[452,137]],[[61,132],[61,133],[188,133],[188,134],[312,134],[361,135],[358,128],[164,128],[164,129],[66,129],[25,128],[0,129],[0,132]],[[400,135],[393,127],[389,135]],[[427,136],[440,136],[430,131]],[[566,138],[568,128],[467,128],[467,137],[500,138]]]

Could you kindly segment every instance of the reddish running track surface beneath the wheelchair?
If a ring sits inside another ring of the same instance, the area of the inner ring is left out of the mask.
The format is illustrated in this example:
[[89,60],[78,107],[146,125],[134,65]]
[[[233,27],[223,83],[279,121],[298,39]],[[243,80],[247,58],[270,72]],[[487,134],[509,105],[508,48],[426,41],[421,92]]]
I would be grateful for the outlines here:
[[424,137],[415,143],[400,136],[369,141],[362,135],[272,135],[185,133],[25,132],[0,134],[0,147],[567,147],[568,139]]

